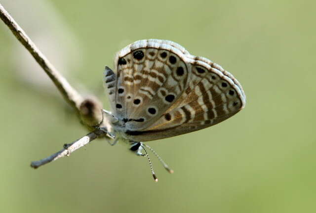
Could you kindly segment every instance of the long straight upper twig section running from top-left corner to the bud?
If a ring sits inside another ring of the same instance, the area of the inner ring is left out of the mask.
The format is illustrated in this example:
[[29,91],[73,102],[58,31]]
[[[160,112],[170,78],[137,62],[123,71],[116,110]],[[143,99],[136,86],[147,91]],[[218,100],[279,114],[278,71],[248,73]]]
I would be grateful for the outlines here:
[[82,102],[82,96],[67,82],[67,80],[55,69],[55,67],[40,52],[38,47],[26,35],[23,29],[15,22],[9,13],[0,4],[0,18],[9,27],[14,36],[25,46],[32,54],[34,59],[40,64],[49,78],[56,85],[65,100],[79,113],[79,106]]

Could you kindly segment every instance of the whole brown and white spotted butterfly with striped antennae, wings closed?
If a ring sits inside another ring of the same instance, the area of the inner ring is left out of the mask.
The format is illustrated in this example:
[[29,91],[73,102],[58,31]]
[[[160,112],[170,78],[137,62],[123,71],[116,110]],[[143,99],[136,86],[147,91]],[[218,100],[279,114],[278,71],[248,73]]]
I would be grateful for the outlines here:
[[[111,103],[107,131],[138,156],[152,151],[144,141],[185,134],[218,124],[245,106],[246,97],[232,74],[166,40],[141,40],[120,50],[115,72],[106,67],[104,84]],[[144,153],[143,153],[144,152]]]

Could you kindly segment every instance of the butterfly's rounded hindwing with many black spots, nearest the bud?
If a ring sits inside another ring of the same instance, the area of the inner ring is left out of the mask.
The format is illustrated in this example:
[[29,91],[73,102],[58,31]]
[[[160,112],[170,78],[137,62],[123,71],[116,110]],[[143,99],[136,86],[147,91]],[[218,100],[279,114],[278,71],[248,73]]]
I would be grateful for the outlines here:
[[148,128],[181,97],[191,69],[186,54],[179,44],[163,40],[138,41],[118,52],[116,78],[108,71],[105,82],[112,111],[126,129]]

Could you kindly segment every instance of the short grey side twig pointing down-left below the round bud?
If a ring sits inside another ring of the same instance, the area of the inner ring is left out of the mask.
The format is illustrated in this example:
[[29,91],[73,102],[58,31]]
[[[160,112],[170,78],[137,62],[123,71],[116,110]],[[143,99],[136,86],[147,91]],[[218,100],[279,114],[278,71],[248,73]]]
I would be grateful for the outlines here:
[[31,163],[31,167],[33,167],[34,169],[37,169],[40,166],[45,165],[49,162],[55,161],[65,156],[69,156],[71,153],[81,148],[82,146],[88,144],[89,142],[91,142],[92,140],[94,140],[95,138],[97,138],[99,135],[102,135],[102,134],[104,134],[104,132],[102,131],[90,132],[84,137],[81,137],[80,139],[76,140],[73,143],[65,144],[64,149],[60,150],[59,152],[56,152],[55,154],[52,154],[51,156],[47,158],[41,159],[40,161],[33,161]]

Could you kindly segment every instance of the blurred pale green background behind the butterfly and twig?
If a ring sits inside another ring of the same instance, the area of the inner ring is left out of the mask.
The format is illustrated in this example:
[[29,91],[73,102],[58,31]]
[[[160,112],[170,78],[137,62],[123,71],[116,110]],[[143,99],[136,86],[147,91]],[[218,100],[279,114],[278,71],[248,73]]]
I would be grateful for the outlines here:
[[152,141],[152,156],[97,140],[38,170],[30,162],[85,135],[29,53],[0,23],[0,211],[297,213],[316,211],[313,0],[1,0],[50,61],[108,108],[105,65],[141,39],[180,43],[230,71],[244,110]]

